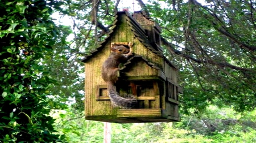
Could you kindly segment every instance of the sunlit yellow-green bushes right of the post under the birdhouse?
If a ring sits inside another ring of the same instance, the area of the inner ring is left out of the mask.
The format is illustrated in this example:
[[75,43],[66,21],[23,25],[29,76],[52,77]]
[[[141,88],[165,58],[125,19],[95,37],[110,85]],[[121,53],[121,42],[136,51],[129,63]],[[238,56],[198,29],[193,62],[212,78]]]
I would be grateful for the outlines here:
[[[112,124],[113,142],[255,142],[255,111],[237,114],[210,106],[177,123]],[[247,116],[248,115],[248,116]]]

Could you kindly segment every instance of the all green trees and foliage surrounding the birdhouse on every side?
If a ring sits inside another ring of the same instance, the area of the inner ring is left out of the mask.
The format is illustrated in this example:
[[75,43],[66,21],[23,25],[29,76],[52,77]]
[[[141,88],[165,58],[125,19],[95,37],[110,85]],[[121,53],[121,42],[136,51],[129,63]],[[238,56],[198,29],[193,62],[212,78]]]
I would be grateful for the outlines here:
[[[115,12],[122,10],[121,3],[0,2],[0,142],[63,139],[65,136],[53,134],[54,120],[49,112],[67,105],[69,114],[57,114],[57,131],[65,133],[70,142],[100,138],[102,124],[83,119],[80,60],[110,31]],[[178,130],[164,123],[114,125],[113,140],[128,141],[141,135],[139,131],[147,131],[144,136],[154,135],[152,141],[162,142],[174,137],[208,137],[205,142],[239,140],[238,136],[254,141],[250,135],[255,133],[251,117],[255,116],[256,99],[256,2],[137,0],[135,5],[161,25],[166,57],[180,68],[183,122],[175,124]],[[226,112],[243,114],[227,116],[232,120],[217,116],[222,112],[218,108],[225,107],[229,109]],[[150,132],[152,128],[155,132]]]

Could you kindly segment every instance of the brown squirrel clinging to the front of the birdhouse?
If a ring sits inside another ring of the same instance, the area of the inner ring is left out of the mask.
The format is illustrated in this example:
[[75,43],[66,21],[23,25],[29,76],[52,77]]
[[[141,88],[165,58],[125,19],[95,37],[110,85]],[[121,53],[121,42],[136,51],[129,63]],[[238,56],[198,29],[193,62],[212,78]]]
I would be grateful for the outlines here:
[[112,105],[121,107],[122,109],[131,109],[137,105],[137,99],[134,96],[128,95],[126,98],[119,96],[115,86],[115,83],[118,80],[119,64],[126,62],[128,57],[133,54],[133,49],[131,48],[132,43],[129,42],[128,46],[130,49],[122,45],[111,45],[111,53],[108,59],[103,63],[101,72],[102,79],[107,84],[108,94]]

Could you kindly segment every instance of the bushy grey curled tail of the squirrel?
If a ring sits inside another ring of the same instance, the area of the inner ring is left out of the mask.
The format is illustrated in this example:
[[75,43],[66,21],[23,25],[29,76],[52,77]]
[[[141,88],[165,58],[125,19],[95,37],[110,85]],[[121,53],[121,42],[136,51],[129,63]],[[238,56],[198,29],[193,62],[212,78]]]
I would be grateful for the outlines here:
[[134,96],[127,95],[126,98],[119,96],[115,85],[112,83],[108,83],[108,92],[113,106],[121,107],[122,109],[131,109],[137,105],[137,99]]

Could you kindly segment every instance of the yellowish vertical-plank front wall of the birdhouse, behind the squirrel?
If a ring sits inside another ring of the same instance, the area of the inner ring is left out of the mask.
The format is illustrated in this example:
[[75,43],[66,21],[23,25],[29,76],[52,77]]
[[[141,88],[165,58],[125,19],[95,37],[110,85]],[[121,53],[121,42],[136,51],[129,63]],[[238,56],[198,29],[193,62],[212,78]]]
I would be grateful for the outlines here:
[[[121,20],[126,21],[125,15],[120,17]],[[129,25],[126,22],[123,22],[117,25],[117,29],[112,33],[111,40],[105,45],[104,49],[94,55],[85,63],[85,115],[86,116],[100,116],[100,115],[115,115],[117,112],[116,108],[113,108],[110,100],[97,100],[96,93],[97,87],[105,86],[106,83],[101,78],[101,66],[102,63],[108,58],[110,54],[110,42],[133,42],[133,51],[135,54],[142,55],[148,61],[160,65],[160,68],[166,67],[163,69],[165,72],[170,71],[169,78],[175,80],[176,76],[172,74],[172,68],[164,65],[163,58],[159,55],[156,55],[151,50],[147,49],[141,41],[138,40],[132,33]],[[158,75],[158,70],[148,66],[144,61],[140,60],[134,63],[135,67],[131,71],[127,72],[127,76],[151,76]],[[166,72],[167,73],[167,72]],[[158,85],[157,85],[158,86]],[[163,101],[163,98],[159,97],[159,93],[155,92],[156,83],[148,87],[141,89],[141,100],[146,99],[144,106],[147,108],[159,108],[159,100]],[[106,90],[103,90],[105,93]],[[152,94],[153,93],[153,94]],[[144,97],[143,97],[144,96]],[[149,99],[148,96],[154,96],[158,102],[155,102]],[[146,103],[146,104],[145,104]],[[147,104],[148,103],[148,104]],[[165,107],[165,105],[162,105]]]

